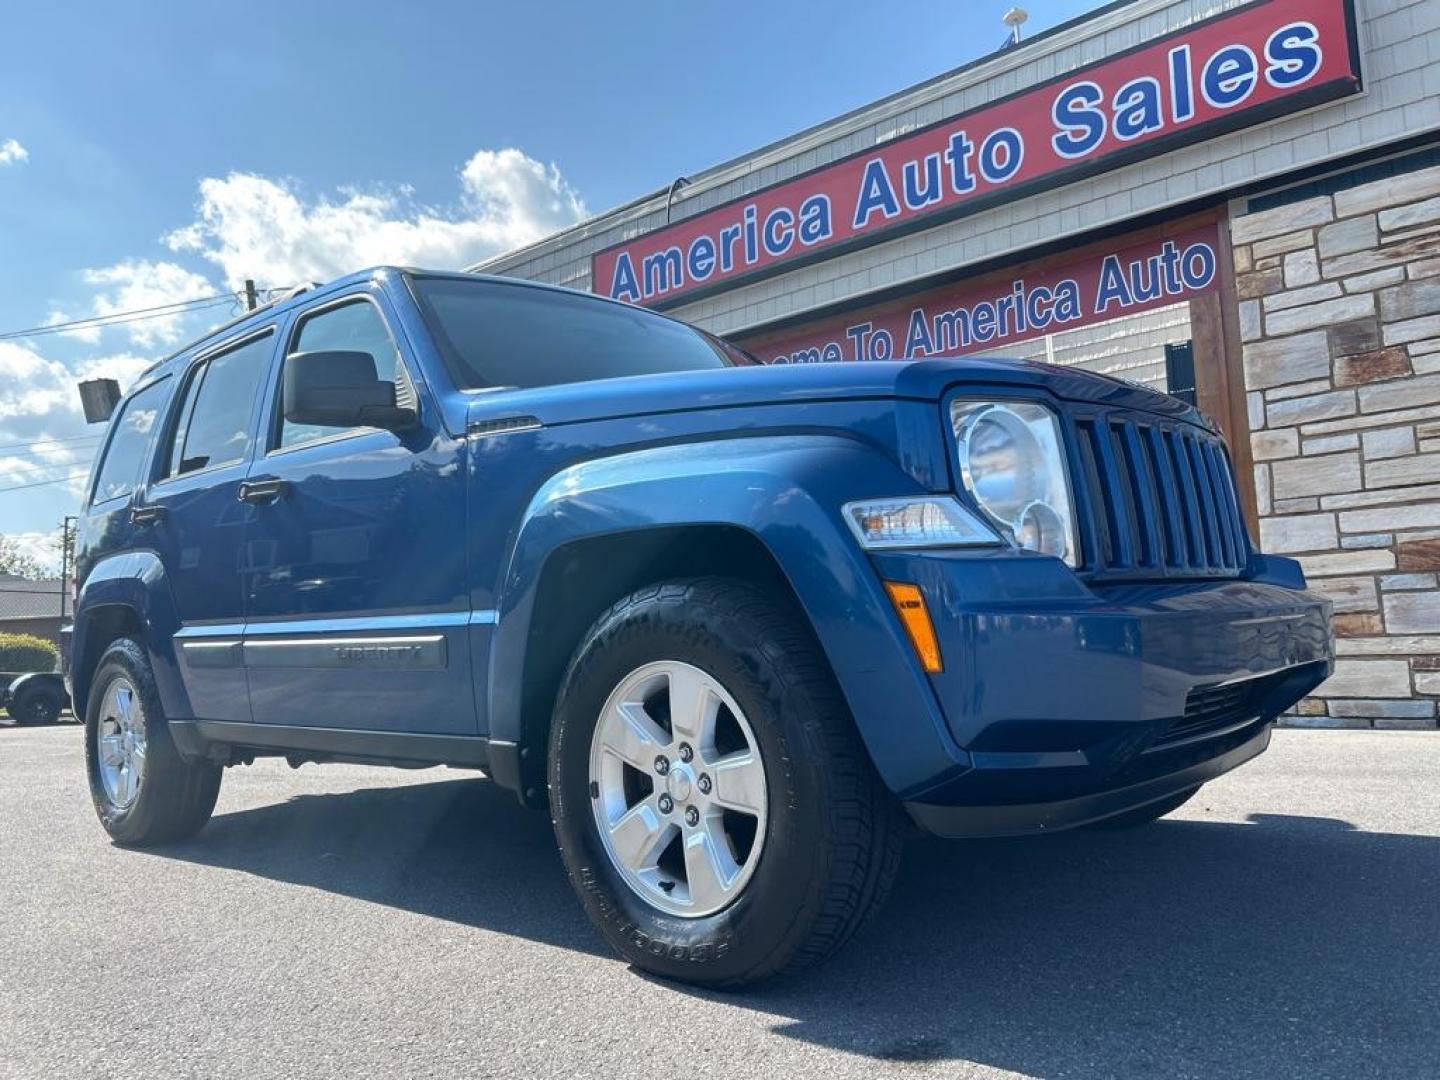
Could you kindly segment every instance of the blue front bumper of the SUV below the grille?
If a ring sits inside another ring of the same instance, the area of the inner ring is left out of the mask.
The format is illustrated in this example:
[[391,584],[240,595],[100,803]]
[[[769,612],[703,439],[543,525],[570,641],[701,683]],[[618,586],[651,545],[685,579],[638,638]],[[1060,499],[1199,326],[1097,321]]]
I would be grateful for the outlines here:
[[1050,559],[896,554],[945,671],[930,677],[965,763],[901,792],[949,837],[1083,825],[1248,760],[1332,668],[1329,603],[1289,560],[1244,577],[1092,586]]

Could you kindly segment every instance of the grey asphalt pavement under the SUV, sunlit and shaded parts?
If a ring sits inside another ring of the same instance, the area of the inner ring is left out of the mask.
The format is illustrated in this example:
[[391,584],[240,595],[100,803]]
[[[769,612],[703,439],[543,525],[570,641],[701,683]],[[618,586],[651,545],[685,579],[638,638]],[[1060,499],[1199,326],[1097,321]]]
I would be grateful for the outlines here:
[[824,968],[616,960],[469,773],[262,762],[101,832],[81,730],[0,729],[0,1077],[1434,1077],[1440,733],[1276,733],[1132,832],[916,838]]

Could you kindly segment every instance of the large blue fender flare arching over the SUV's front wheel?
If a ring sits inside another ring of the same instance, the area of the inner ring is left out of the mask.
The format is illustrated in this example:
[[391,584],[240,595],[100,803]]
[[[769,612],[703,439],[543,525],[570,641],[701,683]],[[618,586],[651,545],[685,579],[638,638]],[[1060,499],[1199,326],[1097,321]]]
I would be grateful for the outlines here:
[[880,576],[840,516],[850,500],[917,491],[876,448],[819,433],[667,445],[562,469],[530,501],[501,579],[490,671],[505,677],[488,680],[491,747],[523,742],[518,672],[539,583],[560,547],[729,526],[769,550],[799,598],[887,786],[903,795],[966,768]]

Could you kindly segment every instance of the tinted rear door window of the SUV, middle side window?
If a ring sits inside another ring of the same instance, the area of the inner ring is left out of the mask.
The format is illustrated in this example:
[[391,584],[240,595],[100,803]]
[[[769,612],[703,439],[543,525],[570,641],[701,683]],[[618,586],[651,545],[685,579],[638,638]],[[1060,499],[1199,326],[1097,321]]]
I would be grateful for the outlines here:
[[274,338],[265,334],[196,369],[170,444],[167,477],[243,461],[251,438],[251,406],[272,348]]

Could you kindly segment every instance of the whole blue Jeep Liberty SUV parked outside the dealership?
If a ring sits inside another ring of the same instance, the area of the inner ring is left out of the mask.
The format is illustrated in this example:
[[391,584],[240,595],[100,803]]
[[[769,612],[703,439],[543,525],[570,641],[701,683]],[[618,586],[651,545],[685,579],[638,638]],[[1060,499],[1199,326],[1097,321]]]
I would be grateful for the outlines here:
[[706,985],[835,950],[906,828],[1159,818],[1332,664],[1328,605],[1254,550],[1174,397],[763,366],[396,268],[147,372],[76,566],[66,678],[115,842],[192,837],[262,756],[482,769],[549,806],[625,958]]

